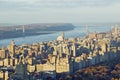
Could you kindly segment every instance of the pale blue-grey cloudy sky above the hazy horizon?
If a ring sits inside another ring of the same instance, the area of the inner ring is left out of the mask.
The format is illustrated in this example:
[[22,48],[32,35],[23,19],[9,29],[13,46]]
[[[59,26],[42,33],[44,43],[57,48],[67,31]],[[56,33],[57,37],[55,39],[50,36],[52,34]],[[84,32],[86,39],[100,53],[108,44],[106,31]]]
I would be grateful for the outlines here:
[[120,0],[0,0],[0,23],[120,22]]

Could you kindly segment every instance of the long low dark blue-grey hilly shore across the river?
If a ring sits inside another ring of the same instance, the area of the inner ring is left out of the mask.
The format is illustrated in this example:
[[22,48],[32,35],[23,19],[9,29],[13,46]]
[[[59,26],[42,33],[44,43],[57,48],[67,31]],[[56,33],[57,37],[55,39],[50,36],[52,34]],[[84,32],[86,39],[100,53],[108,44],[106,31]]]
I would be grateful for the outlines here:
[[[24,30],[23,30],[24,26]],[[0,26],[0,39],[50,34],[74,29],[70,23],[37,23],[27,25]]]

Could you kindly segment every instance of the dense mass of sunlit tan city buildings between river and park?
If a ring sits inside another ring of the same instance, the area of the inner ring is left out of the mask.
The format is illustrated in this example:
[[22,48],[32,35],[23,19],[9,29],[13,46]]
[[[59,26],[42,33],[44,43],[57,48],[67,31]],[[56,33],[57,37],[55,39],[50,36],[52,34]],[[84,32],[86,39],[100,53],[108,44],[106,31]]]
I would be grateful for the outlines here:
[[57,40],[16,46],[12,41],[0,49],[0,79],[47,80],[58,74],[100,62],[120,58],[120,29],[92,33],[85,39],[65,39],[64,32]]

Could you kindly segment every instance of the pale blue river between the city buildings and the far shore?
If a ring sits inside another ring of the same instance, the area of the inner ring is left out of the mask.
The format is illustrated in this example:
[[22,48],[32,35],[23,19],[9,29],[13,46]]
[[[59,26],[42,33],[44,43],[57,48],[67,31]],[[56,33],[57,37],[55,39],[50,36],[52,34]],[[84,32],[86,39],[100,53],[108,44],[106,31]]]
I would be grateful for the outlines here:
[[[89,26],[88,30],[89,32],[106,32],[111,29],[110,26]],[[12,40],[15,41],[16,45],[22,45],[22,44],[32,44],[37,42],[43,42],[43,41],[52,41],[56,40],[59,35],[61,35],[62,32],[56,32],[53,34],[43,34],[43,35],[34,35],[34,36],[26,36],[26,37],[19,37],[19,38],[10,38],[10,39],[4,39],[0,40],[0,47],[7,46],[10,44]],[[71,31],[65,31],[65,37],[71,38],[71,37],[84,37],[86,35],[86,27],[84,26],[76,26]]]

